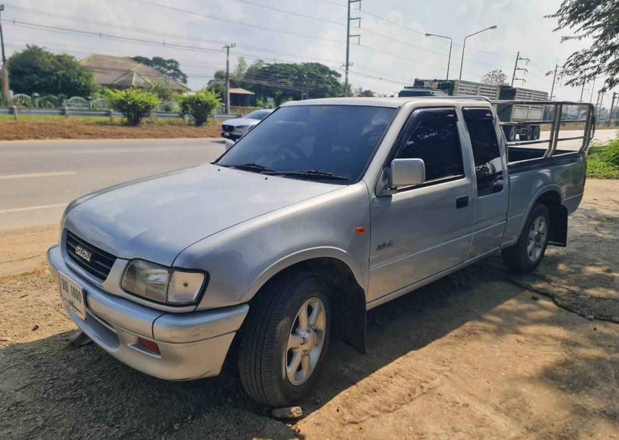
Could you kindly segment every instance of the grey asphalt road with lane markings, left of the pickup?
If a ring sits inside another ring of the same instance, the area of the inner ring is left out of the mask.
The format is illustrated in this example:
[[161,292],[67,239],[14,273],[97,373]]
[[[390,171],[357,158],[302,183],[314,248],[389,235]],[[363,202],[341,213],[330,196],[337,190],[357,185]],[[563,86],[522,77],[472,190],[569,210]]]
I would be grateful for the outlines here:
[[80,195],[223,151],[204,139],[0,142],[0,230],[56,223]]

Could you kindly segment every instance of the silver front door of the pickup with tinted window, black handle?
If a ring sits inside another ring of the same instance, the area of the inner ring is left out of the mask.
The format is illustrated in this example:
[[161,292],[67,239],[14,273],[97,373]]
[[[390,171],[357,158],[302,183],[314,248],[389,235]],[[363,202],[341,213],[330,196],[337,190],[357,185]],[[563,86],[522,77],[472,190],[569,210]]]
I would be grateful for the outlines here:
[[467,258],[475,197],[461,133],[454,108],[411,113],[390,160],[423,159],[426,182],[371,203],[368,300],[411,287]]

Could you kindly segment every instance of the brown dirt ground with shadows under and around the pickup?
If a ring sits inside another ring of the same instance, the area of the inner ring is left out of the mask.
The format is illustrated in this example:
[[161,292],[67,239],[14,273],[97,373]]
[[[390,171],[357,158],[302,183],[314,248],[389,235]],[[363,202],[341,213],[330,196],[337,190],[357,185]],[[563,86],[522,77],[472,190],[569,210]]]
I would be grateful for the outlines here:
[[284,423],[228,368],[164,382],[89,344],[43,265],[55,226],[0,234],[2,439],[619,439],[619,181],[587,181],[567,248],[499,258],[368,314]]

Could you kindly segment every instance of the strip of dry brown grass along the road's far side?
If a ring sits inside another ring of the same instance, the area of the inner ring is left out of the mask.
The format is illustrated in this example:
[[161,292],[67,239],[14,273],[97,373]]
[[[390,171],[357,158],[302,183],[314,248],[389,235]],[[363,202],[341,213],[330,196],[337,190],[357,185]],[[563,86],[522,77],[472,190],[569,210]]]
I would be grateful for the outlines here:
[[220,127],[219,120],[210,120],[202,127],[187,125],[179,119],[146,120],[133,127],[107,118],[0,118],[0,140],[219,137]]

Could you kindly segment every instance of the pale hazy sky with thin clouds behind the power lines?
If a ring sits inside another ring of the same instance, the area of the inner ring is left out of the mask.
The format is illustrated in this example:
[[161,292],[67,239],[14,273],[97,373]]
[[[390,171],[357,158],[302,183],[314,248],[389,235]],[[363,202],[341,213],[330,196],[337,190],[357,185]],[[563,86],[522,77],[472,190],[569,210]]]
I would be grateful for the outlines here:
[[[2,0],[0,0],[1,2]],[[204,87],[226,63],[244,56],[248,63],[315,61],[344,78],[346,0],[6,0],[2,12],[8,54],[26,44],[85,58],[90,54],[175,58],[191,89]],[[516,53],[528,72],[516,85],[550,92],[552,75],[572,52],[589,41],[560,43],[553,32],[560,0],[362,0],[353,3],[350,84],[394,94],[415,78],[458,78],[463,38],[467,40],[463,80],[479,81],[492,69],[511,80]],[[285,11],[285,12],[284,12]],[[48,27],[48,28],[45,28]],[[58,28],[61,28],[59,30]],[[85,31],[92,34],[78,34]],[[452,37],[449,41],[426,33]],[[583,100],[596,102],[603,78],[585,85]],[[581,89],[558,81],[554,96],[579,100]],[[605,106],[609,107],[607,94]]]

